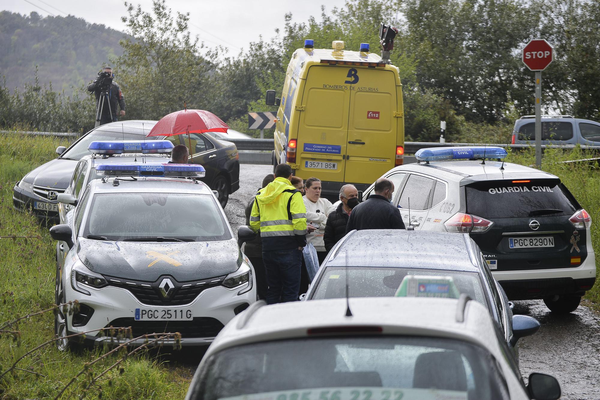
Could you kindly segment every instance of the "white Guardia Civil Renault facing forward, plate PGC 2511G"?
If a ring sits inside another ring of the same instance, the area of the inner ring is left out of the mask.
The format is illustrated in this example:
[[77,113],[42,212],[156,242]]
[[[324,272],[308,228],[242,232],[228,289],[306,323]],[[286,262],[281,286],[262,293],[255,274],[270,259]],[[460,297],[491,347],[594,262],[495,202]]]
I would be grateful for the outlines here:
[[92,331],[86,341],[95,344],[127,340],[100,333],[110,326],[132,327],[133,338],[179,332],[181,345],[208,345],[256,302],[256,285],[214,193],[181,178],[202,177],[203,167],[113,163],[96,171],[106,177],[92,180],[67,223],[50,229],[59,241],[55,302],[79,302],[74,314],[56,315],[59,348],[76,344],[65,336],[77,332]]

